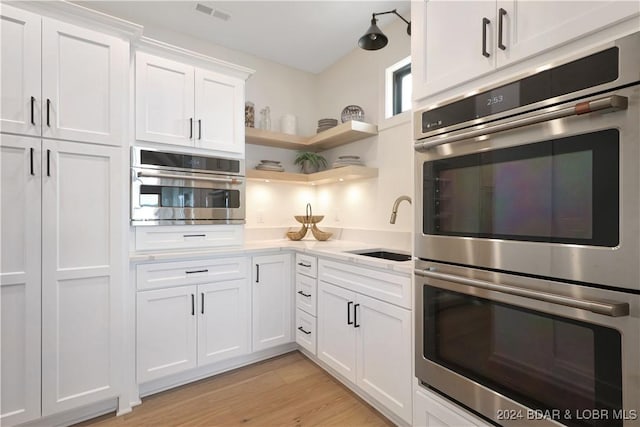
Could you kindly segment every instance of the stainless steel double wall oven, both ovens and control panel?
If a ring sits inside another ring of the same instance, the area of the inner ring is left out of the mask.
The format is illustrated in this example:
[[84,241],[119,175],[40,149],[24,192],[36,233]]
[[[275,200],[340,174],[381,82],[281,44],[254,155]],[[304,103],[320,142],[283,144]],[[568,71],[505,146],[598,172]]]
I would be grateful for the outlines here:
[[501,425],[640,425],[640,34],[418,110],[416,374]]

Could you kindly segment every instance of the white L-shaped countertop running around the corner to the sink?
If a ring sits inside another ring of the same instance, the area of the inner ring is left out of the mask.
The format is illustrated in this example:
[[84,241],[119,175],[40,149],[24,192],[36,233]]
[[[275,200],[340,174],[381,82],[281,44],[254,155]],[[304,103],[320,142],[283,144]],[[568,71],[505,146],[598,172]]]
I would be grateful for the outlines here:
[[[317,240],[291,241],[279,240],[255,240],[245,242],[242,246],[227,246],[208,249],[185,249],[163,252],[133,252],[129,255],[132,263],[157,262],[157,261],[178,261],[186,258],[206,258],[219,255],[252,255],[265,252],[296,251],[311,255],[332,258],[336,261],[346,261],[353,264],[360,264],[366,267],[392,270],[403,274],[413,273],[413,261],[390,261],[380,258],[366,257],[362,255],[348,253],[347,251],[361,249],[386,249],[380,245],[375,246],[369,243],[353,242],[347,240],[328,240],[320,242]],[[394,252],[409,253],[391,249]]]

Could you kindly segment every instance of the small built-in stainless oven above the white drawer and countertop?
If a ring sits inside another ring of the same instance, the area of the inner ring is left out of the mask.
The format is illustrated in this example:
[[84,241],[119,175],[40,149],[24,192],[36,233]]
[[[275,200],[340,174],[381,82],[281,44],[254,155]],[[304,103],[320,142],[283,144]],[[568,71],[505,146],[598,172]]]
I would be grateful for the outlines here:
[[131,224],[243,224],[244,160],[131,149]]

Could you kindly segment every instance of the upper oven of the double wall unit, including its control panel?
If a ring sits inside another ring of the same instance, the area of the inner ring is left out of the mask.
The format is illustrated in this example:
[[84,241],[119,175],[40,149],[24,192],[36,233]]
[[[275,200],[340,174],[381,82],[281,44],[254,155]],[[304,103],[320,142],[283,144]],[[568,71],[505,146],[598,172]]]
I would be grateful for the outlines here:
[[640,33],[417,111],[416,255],[640,290]]

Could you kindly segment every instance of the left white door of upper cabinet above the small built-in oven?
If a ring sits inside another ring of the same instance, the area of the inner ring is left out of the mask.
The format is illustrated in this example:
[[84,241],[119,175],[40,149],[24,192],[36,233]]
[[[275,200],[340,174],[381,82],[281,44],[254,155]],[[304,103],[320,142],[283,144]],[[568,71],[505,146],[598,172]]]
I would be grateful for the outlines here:
[[194,68],[136,53],[136,139],[193,145]]

